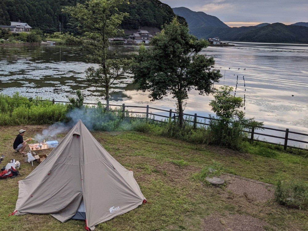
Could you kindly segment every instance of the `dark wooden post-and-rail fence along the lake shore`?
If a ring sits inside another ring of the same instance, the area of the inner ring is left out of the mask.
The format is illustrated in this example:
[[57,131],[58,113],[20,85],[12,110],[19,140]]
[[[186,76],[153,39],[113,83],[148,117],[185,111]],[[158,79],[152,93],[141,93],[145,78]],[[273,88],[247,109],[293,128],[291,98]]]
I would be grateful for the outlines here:
[[[39,101],[50,101],[52,103],[70,103],[68,101],[55,101],[55,99],[52,99],[52,100],[37,99],[37,100],[39,100]],[[83,103],[83,104],[97,105],[97,103]],[[173,120],[176,120],[176,118],[178,117],[178,115],[177,115],[178,113],[176,111],[172,111],[172,109],[165,110],[165,109],[160,109],[160,108],[156,108],[156,107],[149,107],[149,105],[147,105],[146,107],[145,106],[125,105],[125,103],[123,103],[122,105],[118,105],[118,104],[109,104],[109,105],[113,106],[113,107],[122,108],[123,117],[124,117],[124,112],[125,112],[126,108],[138,108],[138,109],[139,108],[145,108],[146,111],[130,111],[129,113],[131,113],[131,114],[145,114],[146,115],[146,119],[149,118],[149,115],[159,116],[159,117],[162,117],[162,118],[171,118]],[[162,111],[162,112],[168,112],[169,115],[161,115],[161,114],[152,113],[152,112],[149,111],[149,109],[153,109],[153,110],[157,110],[157,111]],[[173,114],[173,116],[172,116],[172,114]],[[209,123],[199,122],[200,119],[205,120],[205,121],[206,120],[217,120],[215,118],[210,118],[210,117],[206,117],[206,116],[197,115],[197,113],[195,113],[194,115],[184,113],[184,115],[193,118],[193,120],[185,119],[185,121],[187,121],[189,123],[192,123],[194,128],[197,128],[198,124],[199,125],[209,126]],[[133,117],[133,116],[128,116],[128,117],[129,118],[136,118],[136,117]],[[152,118],[151,120],[158,121],[158,122],[164,122],[163,120],[156,120],[154,118]],[[271,135],[271,134],[255,132],[255,129],[257,129],[257,128],[261,128],[263,130],[276,131],[276,132],[284,132],[284,136],[276,136],[276,135]],[[265,143],[268,143],[268,144],[281,145],[281,146],[283,146],[284,150],[286,150],[287,147],[292,147],[292,148],[298,148],[298,149],[306,150],[306,148],[299,148],[299,147],[295,147],[295,146],[292,146],[292,145],[288,145],[288,141],[289,140],[290,141],[295,141],[295,142],[298,142],[298,143],[302,143],[302,144],[308,144],[308,141],[293,139],[293,138],[289,137],[289,134],[291,133],[291,134],[296,134],[296,135],[304,136],[303,138],[306,138],[306,137],[308,138],[308,134],[301,133],[301,132],[292,132],[292,131],[289,131],[289,128],[286,128],[285,130],[283,130],[283,129],[269,128],[269,127],[253,127],[251,130],[243,131],[243,132],[250,133],[250,141],[261,141],[261,142],[265,142]],[[274,143],[274,142],[269,142],[269,141],[266,141],[266,140],[258,140],[258,139],[255,139],[255,135],[277,138],[277,139],[282,140],[283,144],[282,144],[282,142]]]

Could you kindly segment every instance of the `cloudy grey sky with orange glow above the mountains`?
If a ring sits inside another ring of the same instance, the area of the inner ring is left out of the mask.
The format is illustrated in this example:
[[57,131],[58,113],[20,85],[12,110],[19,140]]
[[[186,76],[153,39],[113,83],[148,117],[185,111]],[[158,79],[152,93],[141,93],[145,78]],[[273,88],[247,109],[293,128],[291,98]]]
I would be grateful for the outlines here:
[[308,22],[308,0],[160,0],[216,16],[228,26]]

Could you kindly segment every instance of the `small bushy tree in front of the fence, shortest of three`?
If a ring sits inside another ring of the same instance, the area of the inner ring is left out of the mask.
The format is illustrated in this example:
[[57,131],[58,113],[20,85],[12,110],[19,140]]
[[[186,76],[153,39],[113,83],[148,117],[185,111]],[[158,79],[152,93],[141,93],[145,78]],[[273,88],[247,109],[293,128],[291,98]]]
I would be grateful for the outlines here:
[[240,150],[245,134],[243,130],[261,127],[263,122],[257,122],[254,118],[246,119],[245,112],[239,108],[244,106],[243,99],[231,95],[233,87],[222,86],[215,89],[214,99],[209,105],[216,113],[216,118],[210,115],[210,130],[212,141],[210,143]]

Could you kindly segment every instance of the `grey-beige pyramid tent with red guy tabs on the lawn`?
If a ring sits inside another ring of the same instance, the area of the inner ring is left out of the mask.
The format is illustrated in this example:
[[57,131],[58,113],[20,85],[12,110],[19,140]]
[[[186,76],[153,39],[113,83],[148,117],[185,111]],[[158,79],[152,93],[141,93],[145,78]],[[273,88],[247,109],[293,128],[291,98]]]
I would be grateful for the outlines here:
[[85,217],[86,229],[135,209],[146,199],[128,171],[79,120],[58,146],[19,181],[11,215],[51,214],[61,222]]

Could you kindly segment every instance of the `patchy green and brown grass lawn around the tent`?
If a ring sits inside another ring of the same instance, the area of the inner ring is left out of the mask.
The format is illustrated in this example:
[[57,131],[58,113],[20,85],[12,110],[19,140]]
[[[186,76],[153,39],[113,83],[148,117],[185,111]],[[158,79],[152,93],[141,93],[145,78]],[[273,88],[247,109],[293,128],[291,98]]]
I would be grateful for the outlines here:
[[[85,222],[61,223],[51,215],[10,216],[18,197],[18,180],[25,178],[38,163],[24,162],[13,150],[13,141],[21,127],[0,127],[0,155],[4,166],[19,160],[21,176],[0,180],[0,227],[2,230],[84,230]],[[24,138],[41,134],[47,126],[22,127]],[[264,154],[235,152],[220,147],[189,144],[180,140],[139,132],[92,132],[103,147],[125,168],[134,172],[148,203],[101,223],[95,230],[207,230],[209,216],[247,215],[266,222],[263,230],[308,230],[308,211],[289,209],[274,200],[261,203],[232,195],[225,187],[213,187],[193,180],[194,174],[220,162],[227,173],[277,184],[279,180],[308,180],[308,158],[279,151]],[[64,137],[60,134],[59,137]],[[27,149],[28,150],[28,149]],[[44,151],[47,152],[48,151]],[[255,152],[255,150],[253,150]],[[224,225],[225,221],[220,221]]]

